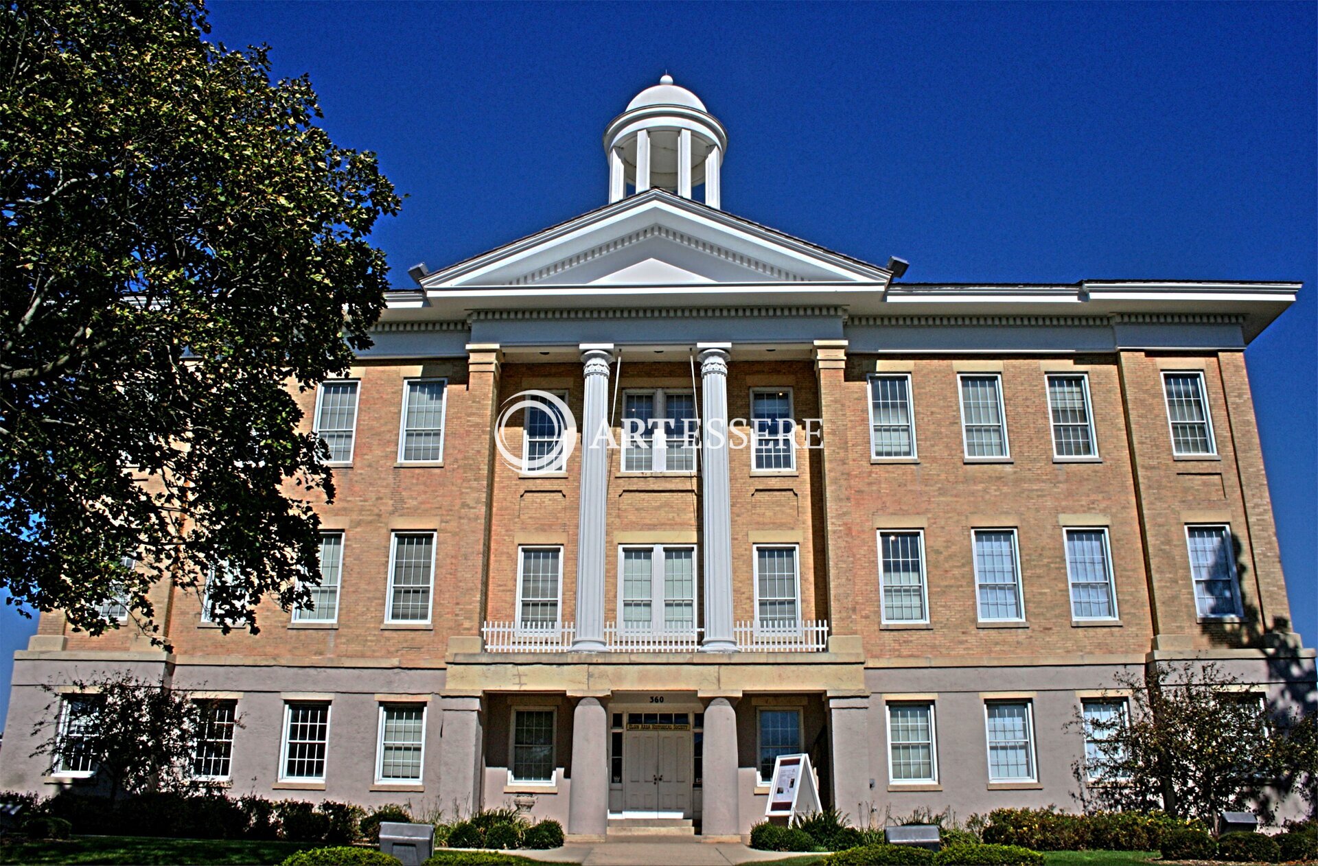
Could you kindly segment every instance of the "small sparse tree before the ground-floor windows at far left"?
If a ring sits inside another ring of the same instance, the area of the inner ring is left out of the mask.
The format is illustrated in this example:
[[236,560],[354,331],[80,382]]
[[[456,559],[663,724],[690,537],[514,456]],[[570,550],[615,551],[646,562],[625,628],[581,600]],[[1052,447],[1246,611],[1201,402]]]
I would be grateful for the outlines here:
[[51,770],[61,761],[90,765],[111,800],[191,787],[192,753],[214,710],[210,701],[123,671],[75,679],[69,689],[83,700],[70,703],[66,693],[51,701],[33,726],[33,736],[42,737],[33,755],[49,757]]

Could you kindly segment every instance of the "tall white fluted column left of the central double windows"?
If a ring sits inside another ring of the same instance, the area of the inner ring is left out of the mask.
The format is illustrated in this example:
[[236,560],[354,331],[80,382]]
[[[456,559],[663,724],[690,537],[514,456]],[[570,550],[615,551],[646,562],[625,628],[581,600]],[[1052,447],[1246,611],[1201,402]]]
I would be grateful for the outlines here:
[[581,410],[581,514],[577,523],[577,613],[573,652],[604,643],[604,531],[609,486],[609,362],[613,344],[581,345],[585,405]]

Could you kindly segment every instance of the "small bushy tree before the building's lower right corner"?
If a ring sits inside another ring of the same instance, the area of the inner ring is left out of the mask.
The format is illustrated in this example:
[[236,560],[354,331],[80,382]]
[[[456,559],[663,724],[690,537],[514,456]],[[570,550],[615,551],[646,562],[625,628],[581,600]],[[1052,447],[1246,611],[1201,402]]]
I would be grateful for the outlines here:
[[1294,787],[1306,722],[1269,712],[1217,664],[1157,664],[1118,685],[1111,697],[1128,695],[1124,714],[1070,722],[1095,753],[1073,765],[1087,807],[1164,809],[1213,826],[1223,809],[1268,819],[1277,792]]

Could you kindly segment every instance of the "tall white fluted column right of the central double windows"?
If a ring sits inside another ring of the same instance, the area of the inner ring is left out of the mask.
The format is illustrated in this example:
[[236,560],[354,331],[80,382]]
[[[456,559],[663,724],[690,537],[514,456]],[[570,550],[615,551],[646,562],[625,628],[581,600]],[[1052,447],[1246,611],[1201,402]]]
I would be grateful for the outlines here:
[[705,639],[709,652],[733,652],[733,519],[728,481],[728,351],[731,343],[697,343],[700,349],[701,455],[705,510]]

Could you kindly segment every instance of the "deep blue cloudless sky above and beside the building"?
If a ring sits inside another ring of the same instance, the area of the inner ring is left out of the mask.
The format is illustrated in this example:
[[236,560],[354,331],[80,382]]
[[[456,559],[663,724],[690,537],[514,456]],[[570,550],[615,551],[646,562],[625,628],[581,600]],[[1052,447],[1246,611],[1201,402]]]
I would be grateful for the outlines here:
[[[1301,279],[1247,352],[1297,629],[1315,576],[1315,5],[221,3],[409,198],[394,283],[606,202],[667,69],[729,132],[724,207],[909,281]],[[30,625],[0,613],[0,652]],[[8,664],[0,664],[0,718]]]

